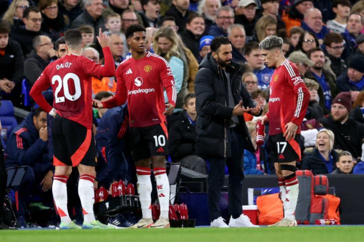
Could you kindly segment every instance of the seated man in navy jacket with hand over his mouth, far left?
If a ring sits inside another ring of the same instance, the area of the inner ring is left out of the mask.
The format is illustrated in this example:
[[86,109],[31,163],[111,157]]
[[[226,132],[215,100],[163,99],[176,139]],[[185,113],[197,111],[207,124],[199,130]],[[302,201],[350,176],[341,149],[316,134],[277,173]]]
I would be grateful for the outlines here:
[[[37,108],[16,128],[6,143],[6,167],[28,166],[18,191],[19,226],[25,226],[25,206],[30,195],[39,195],[46,205],[52,204],[53,166],[48,157],[47,113]],[[44,208],[44,207],[42,207]]]

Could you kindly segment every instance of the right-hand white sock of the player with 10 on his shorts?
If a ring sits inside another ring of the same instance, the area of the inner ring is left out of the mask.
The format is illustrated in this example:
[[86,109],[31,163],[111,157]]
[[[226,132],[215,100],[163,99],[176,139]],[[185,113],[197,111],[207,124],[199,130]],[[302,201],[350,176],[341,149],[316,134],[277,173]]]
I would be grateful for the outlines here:
[[157,182],[158,200],[161,206],[160,217],[168,219],[170,208],[170,181],[168,180],[166,168],[153,168],[153,170]]

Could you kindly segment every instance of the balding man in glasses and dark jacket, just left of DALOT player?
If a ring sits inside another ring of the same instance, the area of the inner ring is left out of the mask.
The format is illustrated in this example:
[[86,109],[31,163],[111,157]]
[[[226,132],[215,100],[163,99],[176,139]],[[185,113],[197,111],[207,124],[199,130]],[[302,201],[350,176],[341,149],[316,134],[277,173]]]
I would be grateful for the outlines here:
[[50,58],[56,56],[52,40],[46,35],[35,36],[33,48],[24,61],[24,76],[30,87],[49,64]]

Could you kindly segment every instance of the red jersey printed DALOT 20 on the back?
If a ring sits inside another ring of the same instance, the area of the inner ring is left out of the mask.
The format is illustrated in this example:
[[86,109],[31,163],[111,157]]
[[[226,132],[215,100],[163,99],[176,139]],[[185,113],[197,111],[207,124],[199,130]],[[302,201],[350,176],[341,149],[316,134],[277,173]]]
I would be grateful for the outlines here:
[[30,96],[45,112],[52,107],[42,91],[53,90],[53,107],[61,117],[92,127],[91,77],[101,79],[115,75],[114,60],[109,47],[103,48],[105,66],[85,56],[66,55],[50,63],[30,90]]

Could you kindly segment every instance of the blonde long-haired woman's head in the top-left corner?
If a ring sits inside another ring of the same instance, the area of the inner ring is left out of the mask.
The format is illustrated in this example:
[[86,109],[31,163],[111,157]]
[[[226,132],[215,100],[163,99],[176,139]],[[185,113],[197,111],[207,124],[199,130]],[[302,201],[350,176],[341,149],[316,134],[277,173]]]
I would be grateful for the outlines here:
[[23,25],[21,21],[25,8],[29,7],[27,0],[13,0],[2,16],[2,20],[7,21],[10,25]]

